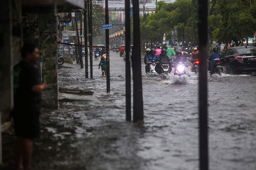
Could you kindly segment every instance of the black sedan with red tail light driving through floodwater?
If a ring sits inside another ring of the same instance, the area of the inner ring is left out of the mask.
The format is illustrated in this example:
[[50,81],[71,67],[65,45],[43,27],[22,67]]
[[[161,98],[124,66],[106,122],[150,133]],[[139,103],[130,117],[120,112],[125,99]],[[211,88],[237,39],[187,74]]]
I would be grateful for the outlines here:
[[227,73],[256,71],[256,48],[251,46],[231,47],[223,54],[222,66]]

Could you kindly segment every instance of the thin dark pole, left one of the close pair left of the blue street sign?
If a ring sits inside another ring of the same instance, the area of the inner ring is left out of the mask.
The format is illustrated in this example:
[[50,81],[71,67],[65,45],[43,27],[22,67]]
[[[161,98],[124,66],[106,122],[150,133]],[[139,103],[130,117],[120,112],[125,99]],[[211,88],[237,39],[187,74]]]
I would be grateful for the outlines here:
[[[87,20],[86,20],[86,6],[87,1],[84,1],[84,19],[83,19],[83,23],[84,23],[84,46],[87,46]],[[84,64],[85,64],[85,78],[88,78],[88,51],[87,51],[87,47],[84,47]]]

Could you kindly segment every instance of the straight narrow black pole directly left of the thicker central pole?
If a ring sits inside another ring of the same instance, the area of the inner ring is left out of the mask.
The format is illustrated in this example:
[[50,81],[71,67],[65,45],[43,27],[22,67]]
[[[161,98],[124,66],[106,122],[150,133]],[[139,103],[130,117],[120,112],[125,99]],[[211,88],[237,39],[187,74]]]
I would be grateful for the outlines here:
[[125,0],[125,86],[126,86],[126,120],[131,121],[131,20],[130,0]]

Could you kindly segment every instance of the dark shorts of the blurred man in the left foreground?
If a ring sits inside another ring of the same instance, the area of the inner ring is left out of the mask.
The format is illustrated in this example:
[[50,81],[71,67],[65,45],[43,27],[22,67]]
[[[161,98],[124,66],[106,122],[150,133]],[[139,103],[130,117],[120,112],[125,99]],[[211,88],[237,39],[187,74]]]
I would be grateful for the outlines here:
[[39,112],[19,112],[14,116],[15,135],[34,139],[39,137]]

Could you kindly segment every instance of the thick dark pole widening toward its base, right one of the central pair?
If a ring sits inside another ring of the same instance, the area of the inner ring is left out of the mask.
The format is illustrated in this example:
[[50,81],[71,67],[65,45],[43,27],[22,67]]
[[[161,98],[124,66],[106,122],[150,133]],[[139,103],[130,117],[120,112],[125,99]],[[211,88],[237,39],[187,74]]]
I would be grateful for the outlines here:
[[139,0],[133,1],[133,122],[143,121],[142,71],[140,54]]

